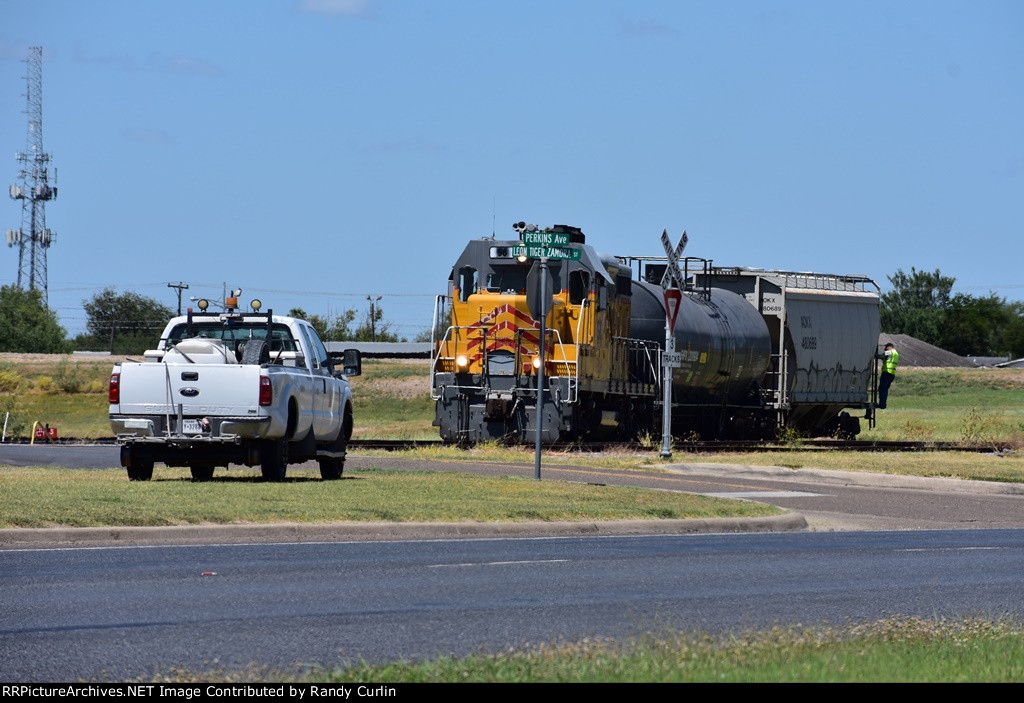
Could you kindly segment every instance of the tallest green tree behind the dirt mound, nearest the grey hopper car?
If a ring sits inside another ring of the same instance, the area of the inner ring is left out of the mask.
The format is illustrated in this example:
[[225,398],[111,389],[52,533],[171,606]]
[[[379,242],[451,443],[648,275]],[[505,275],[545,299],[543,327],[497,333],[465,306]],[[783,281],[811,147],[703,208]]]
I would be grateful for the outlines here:
[[882,331],[910,335],[929,344],[941,343],[942,325],[949,307],[949,292],[956,281],[952,276],[910,268],[889,276],[892,290],[882,296]]

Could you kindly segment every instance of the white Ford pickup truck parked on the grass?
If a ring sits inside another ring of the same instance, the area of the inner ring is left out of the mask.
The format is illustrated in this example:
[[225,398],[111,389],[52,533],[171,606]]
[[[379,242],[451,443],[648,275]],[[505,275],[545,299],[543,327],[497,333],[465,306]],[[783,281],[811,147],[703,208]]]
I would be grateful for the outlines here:
[[144,361],[115,364],[111,428],[129,479],[150,480],[162,462],[189,467],[198,481],[230,464],[282,481],[289,464],[313,458],[324,479],[341,477],[352,436],[346,377],[359,375],[359,352],[336,358],[305,320],[253,305],[189,310]]

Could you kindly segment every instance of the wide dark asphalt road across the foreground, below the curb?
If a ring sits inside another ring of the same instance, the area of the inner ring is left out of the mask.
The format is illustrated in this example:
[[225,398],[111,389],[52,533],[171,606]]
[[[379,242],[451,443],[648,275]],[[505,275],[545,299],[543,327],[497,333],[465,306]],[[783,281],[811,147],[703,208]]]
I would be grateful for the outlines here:
[[1022,575],[1020,530],[8,551],[0,678],[304,669],[673,627],[1024,615]]

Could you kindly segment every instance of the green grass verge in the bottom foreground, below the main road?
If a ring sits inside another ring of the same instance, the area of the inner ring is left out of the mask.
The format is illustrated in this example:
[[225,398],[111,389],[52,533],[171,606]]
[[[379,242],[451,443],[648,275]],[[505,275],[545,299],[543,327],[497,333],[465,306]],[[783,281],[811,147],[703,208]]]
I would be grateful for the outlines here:
[[709,634],[588,639],[422,662],[314,667],[252,665],[158,682],[406,683],[1020,683],[1024,626],[1017,619],[892,617],[844,626],[801,625]]

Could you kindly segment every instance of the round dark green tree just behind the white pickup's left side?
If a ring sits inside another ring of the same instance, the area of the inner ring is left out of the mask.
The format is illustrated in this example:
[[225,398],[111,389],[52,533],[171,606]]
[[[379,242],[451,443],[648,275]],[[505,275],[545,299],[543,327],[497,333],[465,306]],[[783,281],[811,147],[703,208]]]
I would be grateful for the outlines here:
[[82,301],[88,333],[76,344],[109,349],[112,354],[141,354],[156,346],[174,311],[163,303],[131,291],[119,294],[105,288]]

